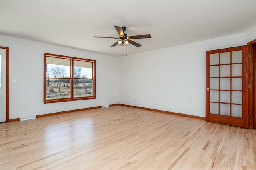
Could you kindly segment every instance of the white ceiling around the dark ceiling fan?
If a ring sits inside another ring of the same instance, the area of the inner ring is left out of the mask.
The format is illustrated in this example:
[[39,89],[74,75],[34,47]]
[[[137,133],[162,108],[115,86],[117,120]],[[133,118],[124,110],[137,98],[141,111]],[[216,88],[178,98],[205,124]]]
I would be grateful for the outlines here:
[[0,0],[0,34],[120,57],[110,47],[126,26],[141,47],[129,54],[235,33],[256,26],[256,0]]

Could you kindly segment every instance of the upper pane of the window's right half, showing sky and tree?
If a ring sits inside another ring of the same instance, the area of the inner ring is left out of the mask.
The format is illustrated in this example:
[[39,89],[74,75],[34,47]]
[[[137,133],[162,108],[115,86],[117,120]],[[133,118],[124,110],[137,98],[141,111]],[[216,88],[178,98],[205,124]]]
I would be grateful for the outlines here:
[[74,60],[74,78],[92,78],[92,62]]

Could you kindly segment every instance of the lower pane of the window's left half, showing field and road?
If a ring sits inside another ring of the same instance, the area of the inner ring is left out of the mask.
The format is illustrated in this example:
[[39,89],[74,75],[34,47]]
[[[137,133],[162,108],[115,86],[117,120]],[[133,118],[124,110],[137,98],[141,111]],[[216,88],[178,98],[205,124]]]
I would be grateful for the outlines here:
[[46,100],[71,98],[70,79],[46,79]]

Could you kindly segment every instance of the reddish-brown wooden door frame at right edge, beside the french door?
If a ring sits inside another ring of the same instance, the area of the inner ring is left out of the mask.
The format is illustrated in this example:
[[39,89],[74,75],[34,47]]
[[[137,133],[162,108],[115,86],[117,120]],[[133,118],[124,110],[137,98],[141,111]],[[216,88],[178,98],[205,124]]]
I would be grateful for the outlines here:
[[249,129],[256,129],[255,122],[255,87],[256,87],[256,39],[247,43],[249,49]]

